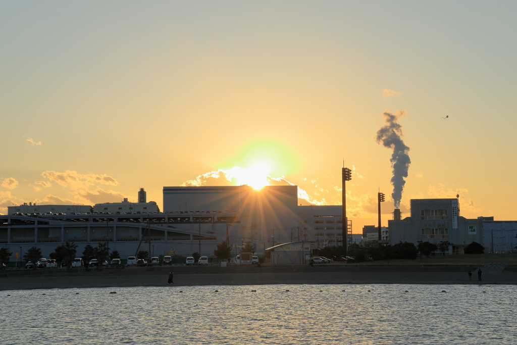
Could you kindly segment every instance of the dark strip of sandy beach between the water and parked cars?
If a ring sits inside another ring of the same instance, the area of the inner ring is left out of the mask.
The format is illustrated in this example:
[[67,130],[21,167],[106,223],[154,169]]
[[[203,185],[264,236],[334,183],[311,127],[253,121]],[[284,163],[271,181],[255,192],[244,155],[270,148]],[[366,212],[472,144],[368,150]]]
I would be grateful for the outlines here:
[[[472,281],[467,271],[473,272]],[[485,270],[486,271],[486,270]],[[226,286],[264,284],[516,284],[517,269],[487,272],[462,266],[283,266],[283,267],[127,267],[125,269],[18,270],[0,275],[0,290],[147,286]],[[169,272],[174,283],[168,284]]]

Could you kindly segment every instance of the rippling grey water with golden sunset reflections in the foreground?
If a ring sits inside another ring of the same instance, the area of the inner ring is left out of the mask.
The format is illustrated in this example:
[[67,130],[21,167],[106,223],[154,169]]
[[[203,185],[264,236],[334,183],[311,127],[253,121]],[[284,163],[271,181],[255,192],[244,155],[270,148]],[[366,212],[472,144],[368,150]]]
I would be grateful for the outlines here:
[[516,292],[392,284],[0,291],[0,342],[515,344]]

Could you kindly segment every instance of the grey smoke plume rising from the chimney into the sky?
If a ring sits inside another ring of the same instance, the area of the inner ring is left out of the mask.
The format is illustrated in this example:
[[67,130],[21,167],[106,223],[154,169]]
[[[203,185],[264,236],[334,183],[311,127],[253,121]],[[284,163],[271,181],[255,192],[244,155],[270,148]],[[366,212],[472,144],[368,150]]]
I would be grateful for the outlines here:
[[391,177],[391,184],[393,185],[393,193],[391,197],[394,201],[395,208],[400,207],[400,201],[402,199],[402,191],[407,177],[407,170],[409,169],[409,156],[407,147],[402,141],[402,126],[397,123],[399,117],[404,117],[406,112],[404,110],[399,111],[396,115],[385,112],[384,114],[385,126],[377,131],[377,142],[384,145],[384,147],[392,148],[393,154],[391,155],[391,167],[393,168],[393,177]]

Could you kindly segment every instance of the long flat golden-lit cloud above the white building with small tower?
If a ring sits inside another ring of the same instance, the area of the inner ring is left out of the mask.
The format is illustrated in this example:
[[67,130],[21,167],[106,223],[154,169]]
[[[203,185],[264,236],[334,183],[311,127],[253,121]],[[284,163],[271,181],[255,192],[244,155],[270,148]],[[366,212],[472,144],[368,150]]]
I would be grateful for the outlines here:
[[87,188],[95,184],[118,186],[118,182],[113,177],[106,174],[80,174],[77,171],[71,170],[61,173],[48,170],[43,171],[41,176],[48,178],[50,181],[53,181],[62,187],[69,187],[74,190]]

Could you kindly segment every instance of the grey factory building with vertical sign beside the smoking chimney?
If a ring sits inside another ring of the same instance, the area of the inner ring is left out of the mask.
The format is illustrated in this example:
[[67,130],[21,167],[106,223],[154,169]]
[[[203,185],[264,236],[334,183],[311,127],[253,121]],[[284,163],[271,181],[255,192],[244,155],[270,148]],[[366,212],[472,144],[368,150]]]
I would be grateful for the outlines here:
[[[451,243],[449,253],[463,254],[472,242],[483,243],[483,219],[460,216],[458,199],[412,199],[410,215],[402,219],[400,210],[388,220],[388,243],[440,241]],[[399,219],[398,219],[399,218]]]

